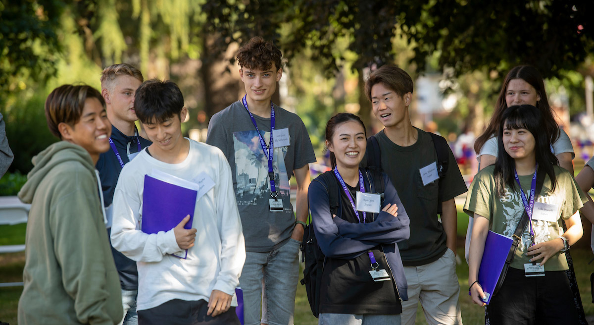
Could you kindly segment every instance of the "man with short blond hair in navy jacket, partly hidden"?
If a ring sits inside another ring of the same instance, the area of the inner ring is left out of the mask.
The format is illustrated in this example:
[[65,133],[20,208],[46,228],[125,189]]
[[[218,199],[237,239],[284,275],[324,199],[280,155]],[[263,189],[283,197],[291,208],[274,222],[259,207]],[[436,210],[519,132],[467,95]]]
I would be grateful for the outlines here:
[[[110,65],[101,74],[101,95],[105,99],[112,135],[109,138],[110,150],[102,153],[97,162],[101,177],[103,204],[108,219],[108,232],[112,224],[112,201],[119,173],[124,165],[132,160],[151,142],[138,135],[134,122],[138,119],[134,109],[134,95],[143,83],[141,72],[130,64]],[[122,286],[124,306],[123,324],[137,324],[136,296],[138,292],[138,271],[136,262],[112,248],[113,258],[118,269]],[[120,323],[120,324],[122,324]]]

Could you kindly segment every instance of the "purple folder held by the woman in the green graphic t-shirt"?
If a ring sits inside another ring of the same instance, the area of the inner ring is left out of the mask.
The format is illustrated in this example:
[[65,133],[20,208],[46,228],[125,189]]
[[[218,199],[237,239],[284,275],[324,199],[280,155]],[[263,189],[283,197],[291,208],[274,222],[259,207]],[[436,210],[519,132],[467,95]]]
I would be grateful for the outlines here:
[[[512,243],[513,239],[497,234],[497,232],[489,231],[489,234],[486,235],[485,250],[483,251],[481,267],[479,267],[478,278],[483,292],[485,292],[486,304],[491,302],[493,291],[501,276]],[[472,242],[470,242],[470,245],[472,245]]]

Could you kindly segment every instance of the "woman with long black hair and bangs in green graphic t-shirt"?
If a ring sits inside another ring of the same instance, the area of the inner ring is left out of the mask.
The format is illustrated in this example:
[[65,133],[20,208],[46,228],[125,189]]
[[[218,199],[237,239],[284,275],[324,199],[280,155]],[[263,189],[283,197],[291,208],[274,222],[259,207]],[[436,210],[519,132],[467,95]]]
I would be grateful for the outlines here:
[[[573,176],[557,166],[543,123],[541,110],[532,105],[505,109],[497,162],[476,175],[466,198],[465,212],[474,219],[469,291],[475,304],[485,305],[478,272],[488,231],[511,236],[525,211],[529,217],[503,285],[487,306],[493,324],[578,322],[563,252],[582,237],[576,212],[587,198]],[[537,179],[544,179],[539,193]]]

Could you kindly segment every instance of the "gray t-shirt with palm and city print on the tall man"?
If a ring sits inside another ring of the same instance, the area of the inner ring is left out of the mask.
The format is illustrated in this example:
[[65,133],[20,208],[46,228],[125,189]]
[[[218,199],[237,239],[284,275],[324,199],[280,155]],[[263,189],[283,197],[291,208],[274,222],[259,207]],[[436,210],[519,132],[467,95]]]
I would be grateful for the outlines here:
[[[208,124],[206,143],[219,147],[229,160],[233,173],[233,189],[244,229],[245,248],[251,252],[272,251],[290,238],[295,225],[295,214],[290,203],[289,179],[293,175],[293,169],[302,168],[316,160],[301,118],[276,105],[274,115],[274,129],[287,128],[290,141],[289,146],[274,147],[274,184],[279,193],[277,198],[283,200],[282,212],[270,212],[268,160],[256,128],[241,101],[214,114]],[[254,119],[268,145],[270,118],[254,115]]]

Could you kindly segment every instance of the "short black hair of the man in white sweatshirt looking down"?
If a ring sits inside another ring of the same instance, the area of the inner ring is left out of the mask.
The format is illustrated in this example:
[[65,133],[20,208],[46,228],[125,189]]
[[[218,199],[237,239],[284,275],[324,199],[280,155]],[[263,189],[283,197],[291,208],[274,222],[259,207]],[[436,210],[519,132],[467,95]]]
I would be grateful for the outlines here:
[[162,123],[184,108],[184,96],[173,81],[151,79],[144,81],[134,95],[136,116],[144,124]]

